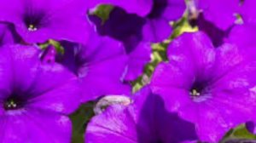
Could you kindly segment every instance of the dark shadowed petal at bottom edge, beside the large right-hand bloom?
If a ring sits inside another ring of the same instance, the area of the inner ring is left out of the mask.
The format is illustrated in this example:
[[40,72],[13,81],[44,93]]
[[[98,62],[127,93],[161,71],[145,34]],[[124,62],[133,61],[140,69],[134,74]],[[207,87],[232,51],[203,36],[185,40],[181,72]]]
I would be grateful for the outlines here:
[[[167,112],[165,98],[152,94],[146,86],[135,94],[138,142],[193,142],[198,140],[195,125],[184,121],[177,112]],[[144,131],[144,133],[140,133]]]

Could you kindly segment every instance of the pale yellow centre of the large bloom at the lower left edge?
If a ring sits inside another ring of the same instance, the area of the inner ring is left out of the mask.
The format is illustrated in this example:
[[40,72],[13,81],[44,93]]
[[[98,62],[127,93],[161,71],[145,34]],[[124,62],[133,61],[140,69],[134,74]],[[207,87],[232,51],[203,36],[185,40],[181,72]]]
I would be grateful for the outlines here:
[[16,109],[21,108],[22,106],[23,106],[22,101],[17,98],[14,98],[14,97],[11,97],[11,98],[5,100],[4,104],[3,104],[3,108],[6,111],[16,110]]

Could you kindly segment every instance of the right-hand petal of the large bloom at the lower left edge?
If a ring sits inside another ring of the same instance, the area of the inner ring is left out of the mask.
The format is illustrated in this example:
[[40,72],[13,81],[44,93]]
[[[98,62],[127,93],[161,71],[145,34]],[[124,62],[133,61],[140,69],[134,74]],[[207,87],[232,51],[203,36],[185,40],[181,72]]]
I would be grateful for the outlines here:
[[[44,72],[51,72],[50,74],[52,76],[49,76]],[[74,112],[79,107],[81,98],[78,78],[74,75],[73,77],[68,77],[69,75],[63,72],[57,73],[48,70],[44,72],[40,72],[42,77],[37,77],[38,79],[35,81],[36,88],[34,90],[36,91],[34,92],[36,93],[37,90],[40,90],[41,92],[37,93],[39,95],[33,98],[28,106],[66,114]],[[60,77],[58,78],[58,76],[56,76],[58,74],[61,75],[61,78],[63,78],[63,75],[67,76],[67,79],[60,80]],[[45,84],[48,85],[37,87],[44,83],[44,81],[47,81],[47,79],[48,82]],[[49,83],[49,80],[54,82]]]

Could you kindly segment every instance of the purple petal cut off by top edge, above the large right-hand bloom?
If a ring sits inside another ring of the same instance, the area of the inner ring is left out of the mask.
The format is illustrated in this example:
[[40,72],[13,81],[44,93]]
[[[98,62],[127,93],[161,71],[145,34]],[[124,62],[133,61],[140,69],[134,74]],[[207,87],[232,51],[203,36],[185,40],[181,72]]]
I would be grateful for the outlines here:
[[195,0],[195,5],[201,10],[205,20],[224,31],[235,24],[240,3],[240,0]]

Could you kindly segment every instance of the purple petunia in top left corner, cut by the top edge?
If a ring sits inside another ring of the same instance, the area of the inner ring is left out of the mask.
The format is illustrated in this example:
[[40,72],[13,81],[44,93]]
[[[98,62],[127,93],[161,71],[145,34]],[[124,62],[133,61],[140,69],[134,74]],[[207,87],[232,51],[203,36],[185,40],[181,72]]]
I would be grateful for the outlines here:
[[0,20],[15,25],[26,43],[46,40],[87,40],[86,0],[9,0],[1,1]]

